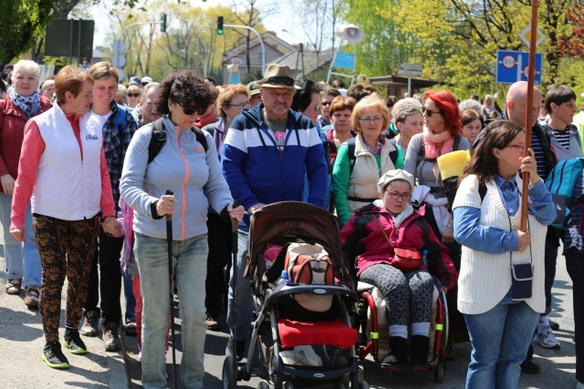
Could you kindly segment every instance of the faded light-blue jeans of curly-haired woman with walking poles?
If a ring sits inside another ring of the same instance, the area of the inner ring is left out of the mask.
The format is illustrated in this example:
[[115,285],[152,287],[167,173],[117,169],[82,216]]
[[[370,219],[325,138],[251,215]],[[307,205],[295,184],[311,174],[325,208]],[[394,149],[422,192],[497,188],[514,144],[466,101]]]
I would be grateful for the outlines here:
[[[134,254],[141,277],[142,385],[166,388],[164,348],[170,313],[170,282],[166,240],[136,233]],[[185,388],[203,387],[204,340],[207,327],[204,309],[204,280],[207,273],[207,235],[172,241],[175,282],[183,322],[181,378]]]

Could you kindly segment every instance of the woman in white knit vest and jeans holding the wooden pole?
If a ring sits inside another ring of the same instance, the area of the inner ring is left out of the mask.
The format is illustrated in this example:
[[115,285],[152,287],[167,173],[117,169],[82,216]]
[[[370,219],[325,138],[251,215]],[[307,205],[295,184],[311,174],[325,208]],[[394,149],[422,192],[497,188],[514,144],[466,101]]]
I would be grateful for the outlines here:
[[[533,150],[523,157],[525,139],[510,121],[488,125],[454,200],[454,237],[463,245],[458,310],[473,345],[466,374],[470,389],[517,387],[539,313],[546,309],[546,225],[556,210],[537,176]],[[518,171],[529,178],[525,232],[517,230],[525,217],[519,211]],[[527,271],[518,272],[520,267]],[[528,281],[516,282],[514,274]]]

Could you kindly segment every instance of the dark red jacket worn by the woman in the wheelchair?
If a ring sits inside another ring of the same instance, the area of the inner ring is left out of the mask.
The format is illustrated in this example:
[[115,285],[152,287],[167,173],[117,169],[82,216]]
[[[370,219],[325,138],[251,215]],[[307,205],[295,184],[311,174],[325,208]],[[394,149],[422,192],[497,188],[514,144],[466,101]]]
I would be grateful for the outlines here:
[[356,269],[359,275],[371,265],[390,264],[393,258],[393,249],[372,218],[380,221],[393,247],[420,252],[427,250],[429,271],[438,276],[443,286],[456,286],[458,272],[454,269],[448,249],[438,241],[422,215],[414,211],[396,229],[390,213],[373,204],[357,210],[340,231],[342,256],[347,269]]

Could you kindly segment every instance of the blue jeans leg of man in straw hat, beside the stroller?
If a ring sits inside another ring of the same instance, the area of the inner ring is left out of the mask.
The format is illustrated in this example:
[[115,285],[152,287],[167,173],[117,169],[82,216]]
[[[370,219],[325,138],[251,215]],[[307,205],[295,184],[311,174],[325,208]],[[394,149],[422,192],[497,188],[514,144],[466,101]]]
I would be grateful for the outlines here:
[[[249,239],[249,228],[239,227],[237,231],[237,340],[247,340],[250,336],[252,326],[252,315],[254,312],[254,300],[249,278],[244,278],[245,263],[247,261],[247,241]],[[227,295],[227,324],[234,335],[234,267],[229,273],[229,293]]]

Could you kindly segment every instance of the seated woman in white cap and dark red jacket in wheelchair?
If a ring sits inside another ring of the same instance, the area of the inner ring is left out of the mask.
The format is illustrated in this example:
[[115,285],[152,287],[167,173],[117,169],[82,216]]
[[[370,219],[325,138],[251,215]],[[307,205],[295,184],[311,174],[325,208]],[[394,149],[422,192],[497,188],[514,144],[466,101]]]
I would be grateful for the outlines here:
[[[413,176],[404,170],[390,170],[379,180],[378,189],[381,200],[357,210],[341,230],[343,261],[348,269],[357,269],[360,281],[375,285],[387,302],[391,353],[383,364],[407,363],[411,317],[411,362],[424,366],[430,346],[434,285],[428,271],[438,275],[444,292],[454,287],[457,273],[448,250],[410,205]],[[396,261],[398,249],[417,253],[420,263],[401,267]],[[422,262],[422,251],[427,251],[427,263]]]

